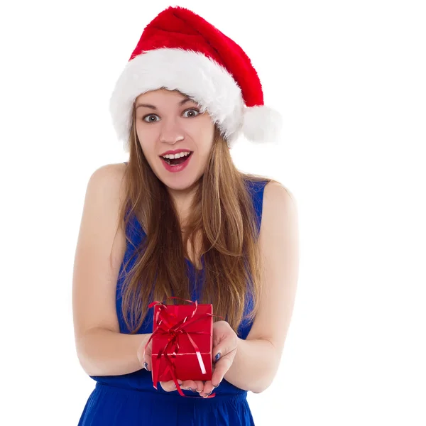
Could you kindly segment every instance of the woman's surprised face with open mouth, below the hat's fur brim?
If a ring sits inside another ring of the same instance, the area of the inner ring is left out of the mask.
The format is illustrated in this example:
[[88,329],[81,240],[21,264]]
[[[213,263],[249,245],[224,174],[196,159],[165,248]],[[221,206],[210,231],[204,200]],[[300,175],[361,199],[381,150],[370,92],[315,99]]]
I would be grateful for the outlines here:
[[[141,94],[135,108],[136,133],[153,173],[175,195],[190,192],[204,173],[213,145],[212,118],[184,94],[167,89]],[[191,154],[182,165],[168,165],[161,156],[167,151]]]

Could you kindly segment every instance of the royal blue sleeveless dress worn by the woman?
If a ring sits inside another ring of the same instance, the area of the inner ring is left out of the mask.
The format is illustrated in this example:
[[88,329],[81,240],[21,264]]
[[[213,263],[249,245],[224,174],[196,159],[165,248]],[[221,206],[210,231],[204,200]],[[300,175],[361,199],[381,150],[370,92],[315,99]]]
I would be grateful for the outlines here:
[[[256,210],[258,230],[261,225],[263,190],[268,181],[248,182],[247,187],[253,198]],[[134,246],[138,246],[146,237],[136,218],[126,228],[126,233]],[[131,257],[134,247],[127,244],[126,253],[121,263],[116,290],[116,312],[119,319],[120,332],[129,334],[121,314],[121,285],[124,278],[121,271]],[[204,258],[201,258],[204,271]],[[186,259],[187,273],[191,288],[195,286],[195,266]],[[133,263],[129,263],[129,268]],[[121,277],[121,278],[120,278]],[[200,278],[199,278],[200,279]],[[197,297],[192,290],[192,300]],[[249,297],[250,300],[250,297]],[[246,309],[251,309],[251,303]],[[152,309],[152,308],[151,308]],[[153,332],[152,315],[146,316],[138,334]],[[242,322],[237,335],[246,339],[251,323]],[[178,391],[165,392],[158,384],[153,388],[151,371],[145,368],[121,376],[89,376],[96,381],[94,390],[89,395],[78,426],[249,426],[254,425],[249,404],[246,400],[247,391],[232,385],[225,379],[214,390],[214,398],[183,398]],[[185,395],[198,396],[197,393],[183,390]]]

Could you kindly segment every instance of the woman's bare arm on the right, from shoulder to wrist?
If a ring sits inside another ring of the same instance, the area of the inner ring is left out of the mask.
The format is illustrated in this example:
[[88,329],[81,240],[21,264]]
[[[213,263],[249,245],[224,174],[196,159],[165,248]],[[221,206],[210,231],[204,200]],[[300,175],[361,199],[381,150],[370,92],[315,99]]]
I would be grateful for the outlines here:
[[265,391],[278,371],[297,288],[297,207],[290,192],[275,182],[263,193],[258,244],[264,258],[263,296],[249,335],[238,339],[224,375],[229,383],[254,393]]

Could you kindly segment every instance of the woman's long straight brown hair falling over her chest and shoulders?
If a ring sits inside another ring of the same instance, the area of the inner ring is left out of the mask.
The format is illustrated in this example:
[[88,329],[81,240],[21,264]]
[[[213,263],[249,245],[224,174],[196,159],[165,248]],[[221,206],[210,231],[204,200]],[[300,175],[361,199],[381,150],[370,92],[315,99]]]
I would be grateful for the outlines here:
[[[131,334],[141,328],[149,302],[172,295],[190,299],[185,258],[190,258],[188,239],[195,247],[197,235],[201,236],[204,256],[204,273],[199,275],[200,271],[194,268],[196,282],[199,276],[203,277],[198,302],[212,303],[214,314],[224,317],[235,332],[242,320],[253,320],[262,292],[263,262],[256,244],[258,225],[247,180],[273,179],[237,170],[226,141],[215,126],[207,167],[182,229],[173,199],[143,155],[133,106],[129,163],[124,173],[126,202],[121,204],[119,217],[127,229],[135,215],[147,238],[135,248],[123,268],[121,308]],[[128,235],[126,241],[131,242]],[[133,258],[133,267],[128,270]],[[246,292],[251,293],[252,309],[244,317]],[[181,303],[175,299],[168,301],[173,302]]]

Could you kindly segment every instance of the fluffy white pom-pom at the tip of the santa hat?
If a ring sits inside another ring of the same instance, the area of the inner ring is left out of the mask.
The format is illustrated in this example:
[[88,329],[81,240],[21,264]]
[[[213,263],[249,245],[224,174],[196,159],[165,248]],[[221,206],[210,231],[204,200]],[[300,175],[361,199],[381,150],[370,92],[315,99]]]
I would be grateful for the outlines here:
[[278,143],[283,127],[283,117],[278,111],[265,105],[244,109],[244,136],[249,141]]

